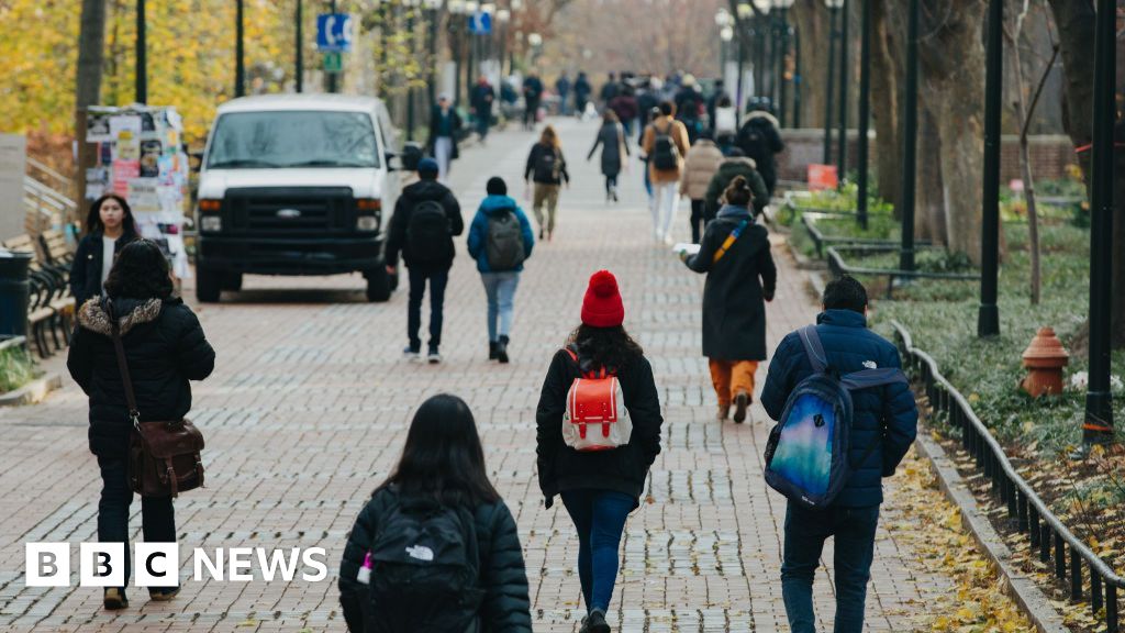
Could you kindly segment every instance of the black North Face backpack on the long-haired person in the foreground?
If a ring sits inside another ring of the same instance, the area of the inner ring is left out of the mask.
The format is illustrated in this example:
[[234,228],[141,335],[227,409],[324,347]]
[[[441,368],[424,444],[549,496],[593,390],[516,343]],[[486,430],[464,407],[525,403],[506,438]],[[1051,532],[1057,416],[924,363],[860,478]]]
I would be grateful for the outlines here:
[[379,518],[369,554],[367,633],[478,631],[485,590],[469,509],[399,498]]

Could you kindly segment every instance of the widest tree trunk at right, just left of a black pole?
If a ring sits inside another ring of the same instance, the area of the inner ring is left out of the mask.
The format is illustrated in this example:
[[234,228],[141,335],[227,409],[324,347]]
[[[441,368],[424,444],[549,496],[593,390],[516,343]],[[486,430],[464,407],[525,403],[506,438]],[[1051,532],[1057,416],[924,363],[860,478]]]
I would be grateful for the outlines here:
[[[935,119],[942,153],[948,248],[981,259],[981,173],[984,155],[984,3],[978,0],[922,0],[921,83]],[[950,51],[957,51],[951,55]],[[934,157],[921,157],[919,164]]]

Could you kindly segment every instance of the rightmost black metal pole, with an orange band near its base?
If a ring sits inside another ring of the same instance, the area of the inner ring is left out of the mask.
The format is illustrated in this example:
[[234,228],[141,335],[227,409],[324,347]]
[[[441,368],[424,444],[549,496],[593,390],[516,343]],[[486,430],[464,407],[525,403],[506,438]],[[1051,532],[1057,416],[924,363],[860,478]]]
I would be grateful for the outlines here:
[[1117,78],[1116,2],[1098,0],[1094,38],[1094,153],[1090,162],[1090,380],[1082,442],[1109,442],[1114,434],[1109,394],[1113,293],[1114,89]]

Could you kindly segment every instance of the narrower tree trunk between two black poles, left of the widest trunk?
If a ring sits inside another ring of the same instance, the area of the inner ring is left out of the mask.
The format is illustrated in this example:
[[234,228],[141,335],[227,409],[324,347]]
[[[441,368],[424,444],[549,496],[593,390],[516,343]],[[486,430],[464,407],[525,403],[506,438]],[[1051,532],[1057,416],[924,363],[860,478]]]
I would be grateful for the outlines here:
[[899,83],[901,59],[886,14],[890,0],[872,0],[871,14],[871,116],[875,126],[875,161],[879,197],[897,214],[902,208],[901,137],[899,136]]

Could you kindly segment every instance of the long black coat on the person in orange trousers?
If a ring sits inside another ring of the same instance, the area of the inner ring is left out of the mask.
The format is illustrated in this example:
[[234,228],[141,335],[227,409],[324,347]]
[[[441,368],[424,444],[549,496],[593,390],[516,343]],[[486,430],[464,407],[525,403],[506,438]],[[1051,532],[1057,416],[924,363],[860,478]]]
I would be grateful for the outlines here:
[[708,274],[703,287],[703,356],[708,358],[766,359],[764,300],[773,300],[777,283],[768,233],[752,220],[727,255],[712,265],[727,237],[749,217],[745,207],[723,207],[708,224],[699,255],[686,261],[692,270]]

